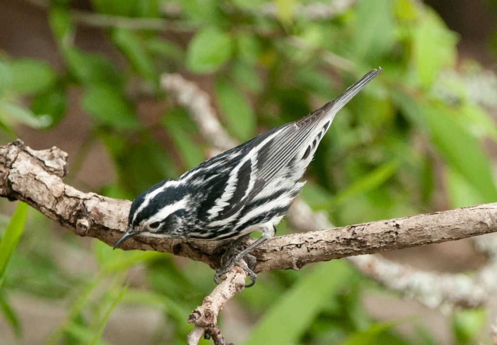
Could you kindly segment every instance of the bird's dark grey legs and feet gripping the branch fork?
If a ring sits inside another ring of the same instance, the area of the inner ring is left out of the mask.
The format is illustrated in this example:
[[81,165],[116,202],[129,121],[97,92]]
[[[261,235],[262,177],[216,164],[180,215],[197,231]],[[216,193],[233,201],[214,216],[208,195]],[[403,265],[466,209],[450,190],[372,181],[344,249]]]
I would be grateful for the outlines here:
[[[251,254],[248,254],[248,252],[257,247],[262,242],[271,238],[275,232],[276,228],[274,226],[267,233],[264,231],[261,238],[259,238],[257,241],[235,255],[233,259],[231,259],[231,257],[233,255],[233,252],[236,251],[236,247],[231,246],[231,248],[228,248],[223,255],[223,258],[221,259],[221,265],[223,265],[223,267],[217,270],[216,274],[214,275],[214,281],[216,282],[216,284],[219,284],[221,276],[226,274],[235,264],[243,268],[244,271],[247,272],[248,276],[250,276],[251,282],[248,285],[245,285],[245,287],[250,287],[255,284],[257,275],[253,271],[255,270],[256,260],[255,257]],[[242,240],[245,240],[248,236],[249,235],[246,235],[241,237],[240,239],[237,239],[233,242],[233,245],[238,246],[242,242]],[[225,257],[229,259],[227,260],[227,264],[224,264]],[[247,262],[247,265],[242,260],[245,260]]]

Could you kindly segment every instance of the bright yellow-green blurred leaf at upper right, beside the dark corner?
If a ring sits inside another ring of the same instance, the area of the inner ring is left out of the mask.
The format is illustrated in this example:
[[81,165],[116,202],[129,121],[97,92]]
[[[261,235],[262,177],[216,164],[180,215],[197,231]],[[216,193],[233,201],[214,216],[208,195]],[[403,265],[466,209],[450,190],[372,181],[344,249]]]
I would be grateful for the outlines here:
[[457,36],[438,14],[428,8],[414,29],[414,69],[424,87],[430,86],[443,68],[454,66]]

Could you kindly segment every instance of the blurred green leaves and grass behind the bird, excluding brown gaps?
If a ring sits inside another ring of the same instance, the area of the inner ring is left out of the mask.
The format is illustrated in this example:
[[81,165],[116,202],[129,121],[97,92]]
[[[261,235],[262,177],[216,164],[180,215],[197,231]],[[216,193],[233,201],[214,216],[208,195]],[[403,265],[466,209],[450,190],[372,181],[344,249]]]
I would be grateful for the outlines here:
[[[497,199],[494,167],[482,146],[483,139],[497,141],[496,125],[464,78],[442,77],[447,71],[459,75],[457,35],[421,2],[359,0],[323,18],[300,10],[312,1],[90,2],[92,11],[84,16],[71,1],[46,3],[62,69],[0,55],[0,129],[5,140],[16,137],[19,123],[50,131],[65,119],[69,90],[80,90],[91,133],[77,161],[100,141],[117,174],[95,192],[132,199],[207,157],[209,143],[186,110],[166,102],[163,72],[210,85],[222,123],[246,140],[299,119],[381,66],[381,75],[336,117],[308,169],[302,197],[336,225]],[[263,8],[271,5],[268,14]],[[85,25],[101,28],[119,62],[75,45]],[[474,62],[467,66],[461,73],[480,70]],[[152,122],[138,110],[144,99],[163,106]],[[184,344],[189,312],[213,287],[211,270],[196,262],[178,265],[171,255],[112,251],[97,241],[87,249],[73,235],[54,235],[49,220],[31,213],[1,277],[0,310],[14,332],[20,335],[22,325],[9,303],[11,292],[69,301],[45,344],[108,344],[101,333],[119,303],[162,311],[163,322],[147,344]],[[1,232],[0,248],[13,243],[7,243],[17,226],[12,224],[20,224],[17,213]],[[292,230],[283,223],[278,231]],[[64,267],[57,246],[90,255],[93,271]],[[142,270],[144,281],[126,283],[132,269]],[[370,285],[345,261],[260,275],[236,299],[256,320],[245,344],[436,343],[422,329],[409,338],[395,330],[411,321],[368,316],[361,296]],[[473,344],[485,319],[480,310],[456,313],[450,321],[454,342]]]

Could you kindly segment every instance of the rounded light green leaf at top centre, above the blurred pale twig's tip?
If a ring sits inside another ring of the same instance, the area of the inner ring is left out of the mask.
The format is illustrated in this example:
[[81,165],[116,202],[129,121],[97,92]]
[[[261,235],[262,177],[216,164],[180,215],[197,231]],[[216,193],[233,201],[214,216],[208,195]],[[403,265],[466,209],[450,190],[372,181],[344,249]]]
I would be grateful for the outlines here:
[[210,73],[230,60],[231,37],[214,27],[198,31],[188,44],[186,67],[194,73]]

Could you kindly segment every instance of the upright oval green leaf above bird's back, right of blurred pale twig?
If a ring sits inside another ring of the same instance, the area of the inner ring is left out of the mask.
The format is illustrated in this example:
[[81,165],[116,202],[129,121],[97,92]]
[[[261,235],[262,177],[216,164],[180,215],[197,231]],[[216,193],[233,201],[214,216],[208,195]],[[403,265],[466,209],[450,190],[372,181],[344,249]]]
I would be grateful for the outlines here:
[[230,82],[216,79],[216,97],[226,117],[227,127],[235,137],[248,140],[255,134],[255,114],[245,96]]

